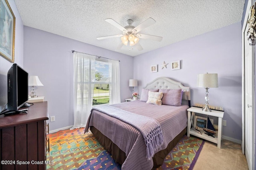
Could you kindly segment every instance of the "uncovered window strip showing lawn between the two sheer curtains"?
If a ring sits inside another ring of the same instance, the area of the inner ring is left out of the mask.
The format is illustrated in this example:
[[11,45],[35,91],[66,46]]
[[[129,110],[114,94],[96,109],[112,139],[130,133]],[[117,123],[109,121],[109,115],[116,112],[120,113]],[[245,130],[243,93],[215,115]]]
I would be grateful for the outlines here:
[[112,64],[104,60],[95,62],[95,84],[93,91],[92,105],[108,104],[110,98],[110,80]]

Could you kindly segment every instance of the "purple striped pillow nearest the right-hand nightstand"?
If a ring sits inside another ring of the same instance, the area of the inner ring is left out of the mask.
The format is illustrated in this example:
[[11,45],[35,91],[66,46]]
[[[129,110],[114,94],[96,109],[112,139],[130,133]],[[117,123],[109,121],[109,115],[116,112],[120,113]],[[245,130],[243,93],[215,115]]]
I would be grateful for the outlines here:
[[162,104],[171,106],[181,105],[181,89],[160,89],[163,92]]

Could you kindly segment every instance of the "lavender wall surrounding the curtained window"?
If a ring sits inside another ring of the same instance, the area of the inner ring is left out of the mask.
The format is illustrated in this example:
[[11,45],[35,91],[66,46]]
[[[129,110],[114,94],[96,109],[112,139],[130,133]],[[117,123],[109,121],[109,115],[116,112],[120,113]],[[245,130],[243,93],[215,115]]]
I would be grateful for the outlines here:
[[24,26],[24,67],[44,84],[35,90],[48,101],[49,118],[55,116],[51,131],[74,124],[72,50],[120,60],[121,102],[132,94],[133,57]]

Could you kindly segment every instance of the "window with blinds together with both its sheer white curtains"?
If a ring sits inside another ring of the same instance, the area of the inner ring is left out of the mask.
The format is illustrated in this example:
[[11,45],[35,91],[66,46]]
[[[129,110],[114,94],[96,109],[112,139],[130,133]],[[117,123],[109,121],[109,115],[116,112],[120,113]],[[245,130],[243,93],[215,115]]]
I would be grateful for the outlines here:
[[74,128],[85,127],[92,105],[120,103],[119,61],[74,51]]

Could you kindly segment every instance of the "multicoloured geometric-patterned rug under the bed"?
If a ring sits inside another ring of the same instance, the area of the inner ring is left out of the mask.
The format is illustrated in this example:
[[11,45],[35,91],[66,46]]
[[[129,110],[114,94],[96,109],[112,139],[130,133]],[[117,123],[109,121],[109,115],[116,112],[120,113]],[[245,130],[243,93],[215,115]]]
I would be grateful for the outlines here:
[[[48,170],[121,170],[91,132],[84,128],[64,130],[47,135],[50,152],[47,153]],[[192,169],[204,145],[204,141],[184,135],[166,156],[157,170]]]

